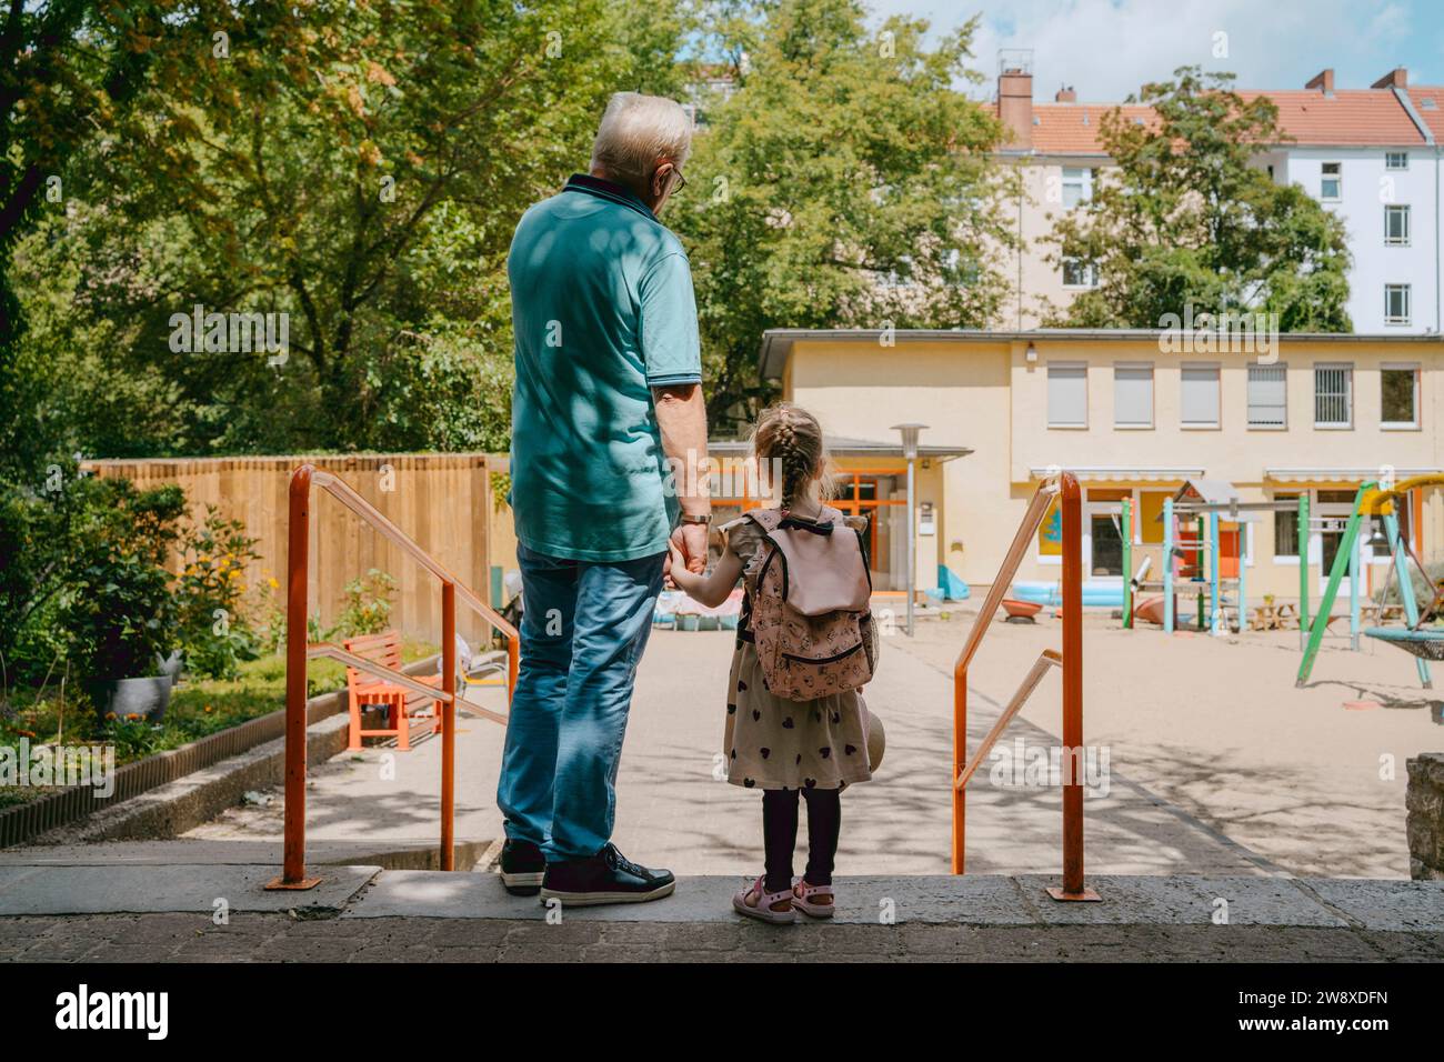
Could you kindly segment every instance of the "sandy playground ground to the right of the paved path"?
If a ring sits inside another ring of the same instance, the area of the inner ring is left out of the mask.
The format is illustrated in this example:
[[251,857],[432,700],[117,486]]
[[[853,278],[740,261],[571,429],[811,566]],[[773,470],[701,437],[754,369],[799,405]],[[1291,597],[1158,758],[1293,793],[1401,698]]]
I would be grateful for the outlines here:
[[[1444,748],[1444,704],[1419,688],[1414,657],[1330,637],[1297,689],[1297,631],[1170,637],[1089,618],[1084,740],[1109,748],[1115,773],[1288,871],[1408,877],[1405,760]],[[907,650],[946,668],[950,626],[920,629]],[[1058,636],[1056,620],[996,626],[972,685],[1004,699],[1008,678]],[[1054,734],[1057,691],[1050,676],[1022,712]]]

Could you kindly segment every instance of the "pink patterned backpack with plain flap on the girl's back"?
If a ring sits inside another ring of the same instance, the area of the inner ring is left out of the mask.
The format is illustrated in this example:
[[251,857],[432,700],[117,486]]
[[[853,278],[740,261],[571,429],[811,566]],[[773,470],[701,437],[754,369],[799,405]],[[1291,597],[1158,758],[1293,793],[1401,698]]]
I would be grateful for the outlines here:
[[767,536],[747,624],[768,692],[812,701],[869,682],[872,577],[858,532],[826,506],[816,522],[775,509],[747,517]]

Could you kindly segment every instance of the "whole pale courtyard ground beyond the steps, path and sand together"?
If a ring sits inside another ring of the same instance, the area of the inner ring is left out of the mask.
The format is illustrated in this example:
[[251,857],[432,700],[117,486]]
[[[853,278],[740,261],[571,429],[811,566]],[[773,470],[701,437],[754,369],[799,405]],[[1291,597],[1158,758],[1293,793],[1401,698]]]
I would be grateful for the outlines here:
[[[839,873],[946,873],[952,663],[970,621],[954,614],[920,623],[914,639],[885,640],[868,699],[887,725],[888,753],[877,779],[845,798]],[[1058,637],[1048,617],[1035,627],[993,626],[970,676],[975,746]],[[1404,761],[1444,747],[1441,704],[1418,688],[1411,657],[1367,640],[1360,653],[1346,639],[1327,643],[1311,685],[1295,689],[1297,644],[1297,633],[1165,637],[1089,617],[1084,740],[1108,757],[1106,773],[1092,779],[1100,795],[1084,802],[1090,873],[1408,877]],[[656,631],[638,675],[615,839],[684,874],[760,867],[757,793],[713,774],[731,647],[725,633]],[[1380,707],[1346,709],[1346,701]],[[1030,783],[1037,779],[1022,766],[1058,744],[1060,722],[1054,670],[999,744],[1008,759],[988,764],[969,789],[970,873],[1058,871],[1058,790],[1045,779]],[[475,718],[458,734],[458,839],[498,835],[501,737]],[[1019,754],[1017,774],[995,767]],[[319,764],[310,838],[364,838],[377,850],[435,838],[438,764],[436,741]],[[276,799],[189,837],[264,842],[279,832]]]

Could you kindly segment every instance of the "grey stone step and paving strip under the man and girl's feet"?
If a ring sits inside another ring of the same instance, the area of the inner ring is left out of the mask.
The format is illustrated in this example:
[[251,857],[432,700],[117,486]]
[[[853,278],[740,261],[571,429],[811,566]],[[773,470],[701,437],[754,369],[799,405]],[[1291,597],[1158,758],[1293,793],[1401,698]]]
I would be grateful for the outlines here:
[[762,926],[731,912],[736,878],[549,913],[491,874],[339,867],[316,890],[267,893],[270,873],[4,867],[0,959],[1444,959],[1444,883],[1097,877],[1100,903],[1056,903],[1043,877],[862,877],[839,880],[833,922]]

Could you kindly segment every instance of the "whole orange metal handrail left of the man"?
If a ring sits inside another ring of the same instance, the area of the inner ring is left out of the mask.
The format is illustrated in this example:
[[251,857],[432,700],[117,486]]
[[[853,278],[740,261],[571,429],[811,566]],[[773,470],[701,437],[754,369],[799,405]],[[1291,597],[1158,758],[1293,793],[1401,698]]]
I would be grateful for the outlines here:
[[[321,487],[341,504],[400,546],[442,584],[442,688],[438,691],[409,675],[365,660],[331,643],[308,644],[306,597],[310,581],[310,488]],[[280,877],[267,889],[312,889],[319,877],[306,877],[306,660],[329,656],[358,670],[429,696],[442,711],[442,870],[455,868],[456,816],[456,598],[507,639],[507,704],[517,686],[520,636],[482,598],[443,568],[430,553],[397,527],[381,510],[357,494],[345,480],[312,465],[300,465],[290,477],[290,526],[286,584],[286,829]],[[488,720],[505,725],[507,717],[466,704]]]

